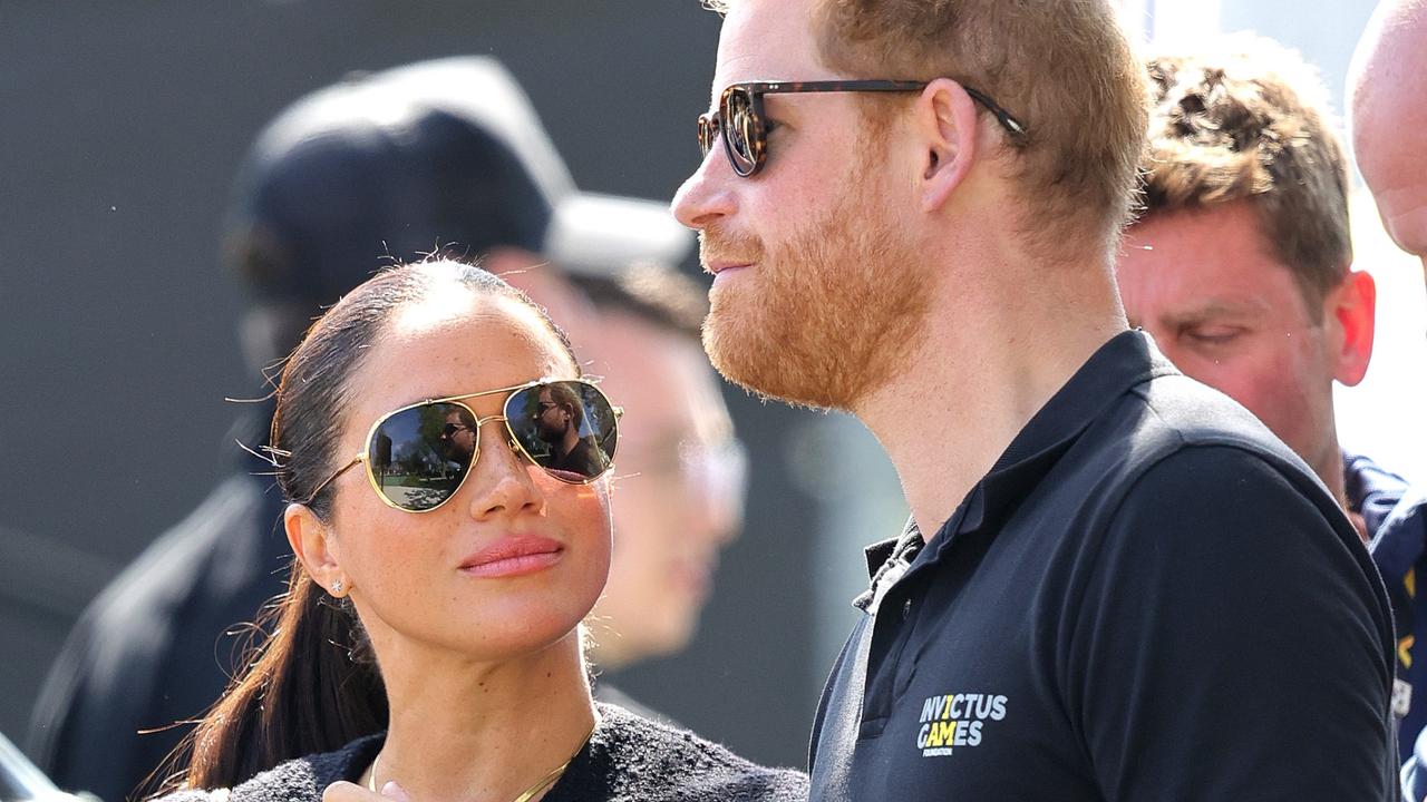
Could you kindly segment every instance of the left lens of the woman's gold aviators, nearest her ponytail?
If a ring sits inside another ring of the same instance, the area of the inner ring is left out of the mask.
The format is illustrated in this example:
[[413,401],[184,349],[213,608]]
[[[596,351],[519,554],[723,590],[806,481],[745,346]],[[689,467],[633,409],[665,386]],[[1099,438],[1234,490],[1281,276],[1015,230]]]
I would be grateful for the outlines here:
[[402,509],[431,509],[461,487],[477,451],[475,418],[458,404],[395,412],[367,445],[377,489]]

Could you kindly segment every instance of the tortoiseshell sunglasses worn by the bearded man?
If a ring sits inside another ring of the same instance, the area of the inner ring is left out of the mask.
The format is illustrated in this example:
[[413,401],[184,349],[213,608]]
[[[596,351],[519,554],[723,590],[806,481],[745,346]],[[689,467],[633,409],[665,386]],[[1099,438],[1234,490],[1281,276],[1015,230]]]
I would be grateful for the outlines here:
[[[699,114],[699,148],[706,158],[714,140],[722,136],[723,154],[733,173],[748,178],[768,161],[768,124],[763,117],[765,94],[811,91],[922,91],[929,81],[751,81],[731,84],[718,101],[718,111]],[[962,86],[966,94],[986,107],[1013,137],[1025,137],[1026,126],[1012,117],[987,94]]]

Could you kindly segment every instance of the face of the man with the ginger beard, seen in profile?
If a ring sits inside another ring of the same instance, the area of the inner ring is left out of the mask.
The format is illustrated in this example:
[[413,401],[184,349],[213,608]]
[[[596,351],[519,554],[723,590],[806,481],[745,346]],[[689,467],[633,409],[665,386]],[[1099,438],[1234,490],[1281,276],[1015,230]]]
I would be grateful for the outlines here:
[[[736,81],[839,77],[819,64],[808,0],[746,0],[723,23],[712,103]],[[718,144],[674,201],[715,273],[705,348],[743,387],[853,408],[902,365],[926,315],[928,278],[898,224],[908,198],[889,190],[886,143],[856,96],[763,100],[763,170],[739,178]]]

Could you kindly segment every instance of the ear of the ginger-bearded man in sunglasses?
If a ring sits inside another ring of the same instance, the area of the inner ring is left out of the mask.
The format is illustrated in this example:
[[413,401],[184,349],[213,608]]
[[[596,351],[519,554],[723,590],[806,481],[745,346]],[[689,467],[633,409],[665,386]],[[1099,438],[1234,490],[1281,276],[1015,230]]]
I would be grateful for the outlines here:
[[922,211],[946,205],[976,160],[976,103],[962,84],[936,78],[916,98],[916,143],[922,150]]

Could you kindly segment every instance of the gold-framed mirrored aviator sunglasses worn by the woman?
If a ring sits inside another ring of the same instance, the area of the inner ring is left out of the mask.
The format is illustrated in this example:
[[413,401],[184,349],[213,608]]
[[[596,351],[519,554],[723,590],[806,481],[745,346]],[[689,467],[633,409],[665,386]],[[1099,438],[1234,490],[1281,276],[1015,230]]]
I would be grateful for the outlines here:
[[[499,415],[477,417],[464,401],[509,397]],[[481,455],[481,427],[502,421],[511,450],[565,484],[589,484],[614,467],[624,410],[586,380],[538,380],[450,398],[432,398],[387,412],[367,435],[365,450],[317,485],[323,491],[358,462],[372,489],[397,509],[430,512],[465,482]]]

